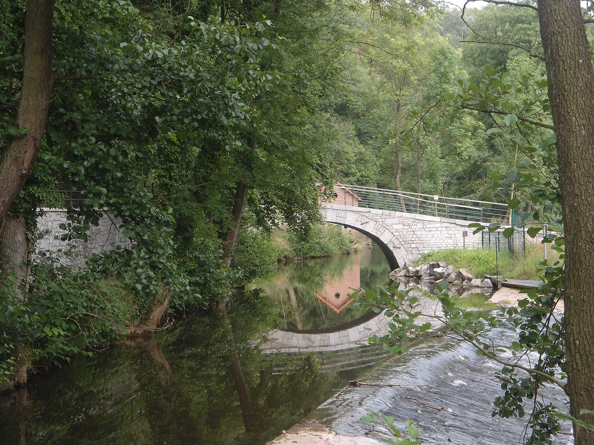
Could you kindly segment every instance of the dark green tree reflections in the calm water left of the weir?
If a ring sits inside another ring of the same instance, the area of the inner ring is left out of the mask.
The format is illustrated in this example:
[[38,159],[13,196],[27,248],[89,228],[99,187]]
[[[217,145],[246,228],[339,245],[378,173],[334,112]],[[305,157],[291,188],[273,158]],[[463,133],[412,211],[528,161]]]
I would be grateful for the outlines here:
[[[252,339],[274,320],[267,297],[239,301],[225,316],[197,314],[154,340],[124,342],[31,379],[28,398],[0,400],[2,443],[19,443],[21,428],[28,443],[266,443],[346,383],[322,373],[315,354],[260,353]],[[244,427],[229,367],[235,352],[253,428]]]

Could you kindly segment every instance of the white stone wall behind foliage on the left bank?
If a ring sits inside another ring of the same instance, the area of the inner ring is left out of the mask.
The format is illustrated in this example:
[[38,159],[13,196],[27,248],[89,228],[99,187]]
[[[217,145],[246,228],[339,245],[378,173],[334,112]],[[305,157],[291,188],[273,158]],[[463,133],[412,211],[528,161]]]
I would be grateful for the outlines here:
[[50,250],[57,252],[58,249],[69,249],[69,242],[77,245],[77,252],[91,255],[93,253],[100,253],[102,250],[113,250],[115,246],[127,247],[129,240],[122,236],[119,231],[119,226],[122,221],[119,218],[114,218],[108,212],[102,212],[103,218],[99,220],[99,226],[91,224],[89,231],[90,240],[87,243],[81,241],[62,241],[54,239],[54,236],[65,233],[59,228],[59,225],[67,222],[68,212],[62,209],[45,208],[45,216],[37,220],[37,227],[40,231],[49,231],[49,234],[37,241],[37,251]]

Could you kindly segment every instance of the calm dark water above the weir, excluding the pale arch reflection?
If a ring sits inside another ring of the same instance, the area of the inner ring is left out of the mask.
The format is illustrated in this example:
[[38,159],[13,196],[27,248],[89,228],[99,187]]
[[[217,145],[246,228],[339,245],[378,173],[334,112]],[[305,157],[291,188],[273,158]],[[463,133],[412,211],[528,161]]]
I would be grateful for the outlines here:
[[279,265],[225,314],[199,313],[0,396],[2,444],[265,444],[384,358],[369,347],[264,354],[273,329],[338,332],[369,320],[350,288],[387,284],[377,246]]

